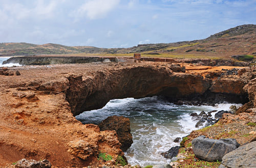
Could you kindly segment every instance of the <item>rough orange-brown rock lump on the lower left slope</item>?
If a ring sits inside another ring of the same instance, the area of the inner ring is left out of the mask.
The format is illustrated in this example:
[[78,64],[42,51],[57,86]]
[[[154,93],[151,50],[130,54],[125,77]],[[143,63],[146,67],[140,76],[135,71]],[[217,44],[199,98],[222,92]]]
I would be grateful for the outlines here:
[[95,141],[83,141],[77,139],[68,143],[68,152],[74,156],[77,156],[83,160],[86,160],[90,156],[96,155],[98,151],[97,142]]

